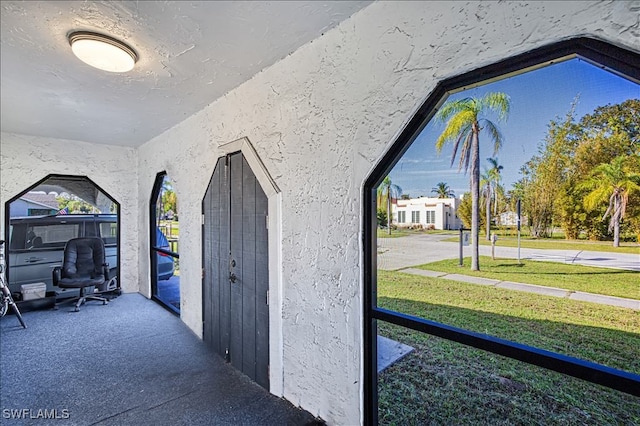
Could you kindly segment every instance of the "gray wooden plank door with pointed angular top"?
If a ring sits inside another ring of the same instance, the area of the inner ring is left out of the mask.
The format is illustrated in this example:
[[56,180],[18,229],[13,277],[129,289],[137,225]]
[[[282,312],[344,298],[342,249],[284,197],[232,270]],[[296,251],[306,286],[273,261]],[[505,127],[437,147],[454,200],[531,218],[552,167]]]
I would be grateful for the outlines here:
[[220,158],[202,203],[203,337],[269,389],[267,207],[242,153]]

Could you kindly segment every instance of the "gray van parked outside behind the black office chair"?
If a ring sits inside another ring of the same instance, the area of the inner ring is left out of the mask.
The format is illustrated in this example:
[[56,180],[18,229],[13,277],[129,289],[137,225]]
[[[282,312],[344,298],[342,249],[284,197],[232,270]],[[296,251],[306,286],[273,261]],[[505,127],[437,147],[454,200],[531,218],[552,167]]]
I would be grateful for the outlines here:
[[64,246],[71,238],[100,237],[105,244],[110,281],[106,288],[118,286],[118,222],[113,214],[52,215],[11,218],[9,222],[8,284],[20,293],[22,284],[44,282],[47,292],[71,297],[77,290],[53,285],[52,271],[61,266]]

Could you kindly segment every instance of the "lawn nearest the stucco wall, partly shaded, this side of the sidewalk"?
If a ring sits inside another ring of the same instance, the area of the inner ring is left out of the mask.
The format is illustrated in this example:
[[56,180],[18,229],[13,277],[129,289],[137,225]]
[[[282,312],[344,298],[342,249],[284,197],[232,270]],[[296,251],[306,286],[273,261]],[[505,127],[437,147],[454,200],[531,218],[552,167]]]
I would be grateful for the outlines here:
[[[640,373],[640,313],[378,271],[378,304]],[[381,424],[640,424],[640,398],[403,327],[415,351],[379,375]]]

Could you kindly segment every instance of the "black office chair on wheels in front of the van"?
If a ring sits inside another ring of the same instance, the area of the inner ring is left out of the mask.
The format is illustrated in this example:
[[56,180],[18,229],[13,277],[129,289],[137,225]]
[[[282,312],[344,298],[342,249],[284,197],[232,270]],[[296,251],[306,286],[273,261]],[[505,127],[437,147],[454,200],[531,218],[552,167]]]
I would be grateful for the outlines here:
[[104,243],[101,238],[73,238],[64,247],[62,267],[53,269],[53,285],[60,288],[77,288],[80,295],[61,304],[76,302],[75,311],[87,300],[98,300],[103,305],[109,301],[94,294],[96,287],[109,281],[109,265],[105,261]]

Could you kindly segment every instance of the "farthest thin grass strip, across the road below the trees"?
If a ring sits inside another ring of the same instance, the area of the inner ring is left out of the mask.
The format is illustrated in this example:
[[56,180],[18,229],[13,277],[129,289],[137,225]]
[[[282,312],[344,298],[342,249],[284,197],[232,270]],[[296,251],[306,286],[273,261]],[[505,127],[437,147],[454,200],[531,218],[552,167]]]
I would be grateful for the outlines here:
[[[459,237],[447,238],[444,241],[458,242]],[[558,240],[558,239],[535,239],[521,238],[520,247],[533,249],[552,249],[552,250],[584,250],[584,251],[604,251],[608,253],[630,253],[640,254],[640,245],[638,243],[620,243],[620,247],[613,247],[613,243],[605,241],[582,241],[582,240]],[[484,236],[480,236],[480,245],[489,246]],[[516,237],[498,237],[497,246],[502,247],[518,247],[518,239]]]

